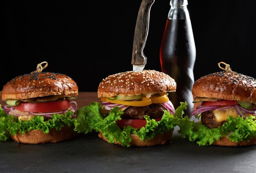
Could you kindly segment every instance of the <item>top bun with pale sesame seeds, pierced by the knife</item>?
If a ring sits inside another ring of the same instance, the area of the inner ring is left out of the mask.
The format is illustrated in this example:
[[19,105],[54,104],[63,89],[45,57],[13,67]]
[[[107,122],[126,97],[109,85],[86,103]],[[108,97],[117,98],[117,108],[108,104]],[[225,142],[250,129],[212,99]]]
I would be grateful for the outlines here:
[[121,72],[103,79],[98,87],[98,97],[144,94],[150,97],[158,92],[176,90],[176,82],[167,74],[155,70]]

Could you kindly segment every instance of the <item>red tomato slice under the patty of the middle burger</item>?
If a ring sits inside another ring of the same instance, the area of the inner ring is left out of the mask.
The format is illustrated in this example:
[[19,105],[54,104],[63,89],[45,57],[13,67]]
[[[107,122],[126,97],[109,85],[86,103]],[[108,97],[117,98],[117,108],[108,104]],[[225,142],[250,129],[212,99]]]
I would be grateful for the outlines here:
[[[155,121],[161,120],[161,118],[156,118]],[[137,129],[141,129],[141,127],[145,127],[147,121],[146,120],[139,120],[139,119],[121,119],[117,120],[117,126],[120,128],[124,128],[125,126],[132,126]]]

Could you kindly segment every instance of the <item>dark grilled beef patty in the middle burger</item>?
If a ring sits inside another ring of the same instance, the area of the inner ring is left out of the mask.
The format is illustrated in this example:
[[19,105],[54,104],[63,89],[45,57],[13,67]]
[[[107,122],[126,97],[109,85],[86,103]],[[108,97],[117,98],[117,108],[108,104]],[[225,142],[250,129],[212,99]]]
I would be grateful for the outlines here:
[[123,119],[141,119],[144,120],[144,115],[150,118],[159,118],[164,114],[164,110],[167,110],[160,104],[150,104],[148,106],[129,106],[124,110],[124,114],[121,115]]

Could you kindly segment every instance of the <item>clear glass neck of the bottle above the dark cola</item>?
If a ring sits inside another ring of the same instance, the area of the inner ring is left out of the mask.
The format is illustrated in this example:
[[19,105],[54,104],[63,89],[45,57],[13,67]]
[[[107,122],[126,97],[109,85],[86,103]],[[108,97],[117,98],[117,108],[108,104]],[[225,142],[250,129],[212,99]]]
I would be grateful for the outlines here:
[[171,9],[168,13],[168,19],[189,19],[187,4],[187,0],[171,0]]

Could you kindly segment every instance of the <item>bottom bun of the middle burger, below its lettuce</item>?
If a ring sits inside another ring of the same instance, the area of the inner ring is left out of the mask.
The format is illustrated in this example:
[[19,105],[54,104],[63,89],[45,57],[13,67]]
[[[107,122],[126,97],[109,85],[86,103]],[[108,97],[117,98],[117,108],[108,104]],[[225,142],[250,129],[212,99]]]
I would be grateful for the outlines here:
[[[98,136],[108,142],[108,140],[105,138],[105,136],[103,136],[101,132],[99,132]],[[166,142],[171,141],[171,138],[173,137],[173,130],[170,130],[164,134],[157,134],[153,139],[146,140],[145,142],[140,140],[139,136],[135,134],[132,134],[130,137],[132,138],[130,146],[151,147],[155,145],[164,145]],[[121,145],[119,142],[115,142],[115,144]]]

